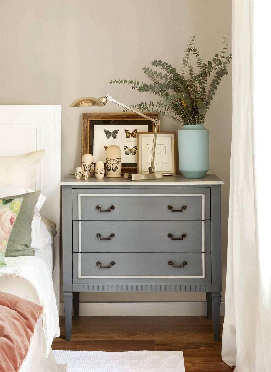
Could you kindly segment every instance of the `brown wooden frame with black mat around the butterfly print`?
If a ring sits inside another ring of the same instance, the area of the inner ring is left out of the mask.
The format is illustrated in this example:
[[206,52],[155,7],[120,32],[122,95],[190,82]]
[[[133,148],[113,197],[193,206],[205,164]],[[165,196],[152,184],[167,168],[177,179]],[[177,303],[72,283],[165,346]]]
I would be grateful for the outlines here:
[[[160,120],[159,113],[145,113],[152,119]],[[82,137],[81,137],[81,160],[84,154],[90,153],[93,156],[94,144],[94,125],[148,125],[148,132],[153,132],[153,122],[142,118],[136,113],[130,112],[113,112],[113,113],[82,113]],[[160,126],[159,129],[160,131]],[[144,133],[144,132],[143,132]],[[146,132],[147,133],[147,132]],[[103,147],[103,146],[102,146]],[[95,164],[94,164],[95,166]],[[122,161],[122,171],[124,173],[137,173],[137,163],[125,163]]]

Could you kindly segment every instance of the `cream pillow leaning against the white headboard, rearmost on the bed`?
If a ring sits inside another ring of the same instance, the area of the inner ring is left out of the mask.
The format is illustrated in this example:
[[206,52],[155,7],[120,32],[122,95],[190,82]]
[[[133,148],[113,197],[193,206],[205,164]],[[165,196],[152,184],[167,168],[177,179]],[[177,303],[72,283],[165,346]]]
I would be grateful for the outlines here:
[[44,150],[13,156],[0,156],[0,185],[22,185],[26,189],[35,189],[38,162]]

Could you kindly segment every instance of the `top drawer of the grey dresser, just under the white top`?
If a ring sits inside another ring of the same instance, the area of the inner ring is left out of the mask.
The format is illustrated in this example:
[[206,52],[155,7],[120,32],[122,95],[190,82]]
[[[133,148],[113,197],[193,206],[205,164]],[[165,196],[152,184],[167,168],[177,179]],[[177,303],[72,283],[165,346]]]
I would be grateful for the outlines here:
[[210,189],[73,189],[73,219],[210,219]]

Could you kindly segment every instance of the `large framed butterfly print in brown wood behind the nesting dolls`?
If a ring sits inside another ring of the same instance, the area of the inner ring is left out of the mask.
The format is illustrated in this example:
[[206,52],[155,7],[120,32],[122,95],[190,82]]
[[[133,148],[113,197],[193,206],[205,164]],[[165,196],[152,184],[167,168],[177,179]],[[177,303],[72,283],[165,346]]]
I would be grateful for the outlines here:
[[[146,115],[160,120],[159,113]],[[96,161],[106,162],[108,146],[117,145],[121,149],[122,174],[137,173],[138,132],[153,132],[153,122],[130,112],[83,113],[81,154],[92,154],[95,166]]]

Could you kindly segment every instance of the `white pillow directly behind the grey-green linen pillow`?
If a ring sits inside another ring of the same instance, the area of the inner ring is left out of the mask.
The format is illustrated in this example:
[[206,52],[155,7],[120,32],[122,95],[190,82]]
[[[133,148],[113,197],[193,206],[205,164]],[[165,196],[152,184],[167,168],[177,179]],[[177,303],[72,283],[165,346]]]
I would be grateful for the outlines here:
[[[15,196],[26,194],[29,192],[34,192],[32,189],[24,189],[20,186],[0,186],[0,198],[4,196]],[[41,215],[39,211],[46,200],[46,196],[39,195],[39,199],[34,208],[34,217],[31,222],[31,248],[41,250],[43,248],[43,244],[41,241],[40,229],[41,229]]]

